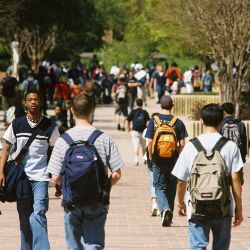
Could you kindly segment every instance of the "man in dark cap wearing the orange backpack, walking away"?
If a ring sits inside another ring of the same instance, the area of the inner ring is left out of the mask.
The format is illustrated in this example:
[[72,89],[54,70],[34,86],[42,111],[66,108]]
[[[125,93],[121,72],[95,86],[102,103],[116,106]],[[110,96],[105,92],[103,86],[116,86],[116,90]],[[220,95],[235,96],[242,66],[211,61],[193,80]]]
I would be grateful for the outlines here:
[[177,182],[171,171],[188,135],[184,123],[171,113],[172,98],[165,95],[160,104],[162,112],[150,119],[145,137],[149,139],[148,153],[153,165],[153,185],[161,224],[169,227],[172,224]]

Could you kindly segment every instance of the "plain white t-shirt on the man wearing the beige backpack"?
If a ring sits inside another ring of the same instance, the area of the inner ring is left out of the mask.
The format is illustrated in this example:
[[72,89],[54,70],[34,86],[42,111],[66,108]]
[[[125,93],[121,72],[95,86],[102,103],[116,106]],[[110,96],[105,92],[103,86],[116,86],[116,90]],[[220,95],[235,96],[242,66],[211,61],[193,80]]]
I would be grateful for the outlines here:
[[[207,150],[211,150],[220,138],[221,135],[217,132],[198,136],[199,141]],[[172,174],[180,180],[188,181],[192,164],[197,154],[198,151],[195,146],[191,142],[187,143],[175,164]],[[220,154],[228,167],[228,173],[238,172],[243,167],[240,150],[234,142],[228,141],[221,149]],[[190,194],[186,192],[187,216],[189,219],[191,218],[190,200]],[[233,202],[230,204],[230,214],[233,215],[234,204]]]

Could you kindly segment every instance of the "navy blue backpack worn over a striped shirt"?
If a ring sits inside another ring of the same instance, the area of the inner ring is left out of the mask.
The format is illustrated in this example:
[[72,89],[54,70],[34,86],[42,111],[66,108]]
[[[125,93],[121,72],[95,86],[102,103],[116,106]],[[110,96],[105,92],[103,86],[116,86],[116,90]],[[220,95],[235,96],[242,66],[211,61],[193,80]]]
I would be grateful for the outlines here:
[[62,171],[63,207],[94,202],[109,204],[111,183],[94,142],[103,132],[95,130],[87,141],[74,141],[67,133],[62,138],[69,144]]

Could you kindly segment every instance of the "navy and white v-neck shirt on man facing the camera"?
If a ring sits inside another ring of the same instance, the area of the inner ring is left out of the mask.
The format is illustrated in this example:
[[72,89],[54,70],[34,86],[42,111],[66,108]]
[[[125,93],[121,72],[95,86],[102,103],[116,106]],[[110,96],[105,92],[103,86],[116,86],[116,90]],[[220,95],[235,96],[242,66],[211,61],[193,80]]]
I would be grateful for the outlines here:
[[[26,116],[16,118],[7,128],[3,138],[15,144],[15,153],[12,158],[15,159],[23,146],[33,133],[33,128],[38,123],[31,123]],[[25,154],[23,164],[28,178],[32,181],[49,181],[48,173],[45,172],[48,162],[49,146],[53,147],[57,138],[60,136],[55,122],[47,117],[39,122],[39,132],[31,143],[28,153]]]

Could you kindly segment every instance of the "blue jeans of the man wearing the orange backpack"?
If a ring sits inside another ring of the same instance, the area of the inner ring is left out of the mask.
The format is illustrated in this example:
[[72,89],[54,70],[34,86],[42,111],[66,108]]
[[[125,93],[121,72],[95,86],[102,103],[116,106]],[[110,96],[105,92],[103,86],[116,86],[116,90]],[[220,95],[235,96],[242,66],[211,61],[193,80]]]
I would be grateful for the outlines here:
[[162,213],[165,209],[174,211],[177,178],[171,174],[175,161],[153,164],[153,183],[157,197],[157,206]]

